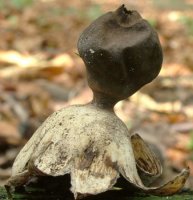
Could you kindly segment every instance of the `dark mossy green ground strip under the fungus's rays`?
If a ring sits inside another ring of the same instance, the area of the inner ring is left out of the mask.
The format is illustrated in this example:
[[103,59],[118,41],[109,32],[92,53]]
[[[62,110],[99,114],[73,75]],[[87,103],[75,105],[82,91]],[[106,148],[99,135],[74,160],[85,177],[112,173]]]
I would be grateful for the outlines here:
[[[96,196],[89,196],[84,200],[192,200],[192,192],[182,192],[173,196],[157,197],[140,193],[128,194],[126,191],[108,191]],[[0,199],[5,200],[7,194],[5,189],[0,187]],[[72,193],[53,193],[39,188],[27,188],[26,191],[13,193],[14,200],[74,200]]]

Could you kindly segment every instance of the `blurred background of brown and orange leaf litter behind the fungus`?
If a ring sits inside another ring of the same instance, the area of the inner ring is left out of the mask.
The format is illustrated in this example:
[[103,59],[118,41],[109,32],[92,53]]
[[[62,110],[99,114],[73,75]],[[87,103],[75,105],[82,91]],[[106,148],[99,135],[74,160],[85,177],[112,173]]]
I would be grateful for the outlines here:
[[92,99],[76,43],[91,21],[123,3],[157,30],[164,63],[115,111],[157,152],[163,181],[188,165],[193,188],[193,0],[0,0],[0,185],[48,115]]

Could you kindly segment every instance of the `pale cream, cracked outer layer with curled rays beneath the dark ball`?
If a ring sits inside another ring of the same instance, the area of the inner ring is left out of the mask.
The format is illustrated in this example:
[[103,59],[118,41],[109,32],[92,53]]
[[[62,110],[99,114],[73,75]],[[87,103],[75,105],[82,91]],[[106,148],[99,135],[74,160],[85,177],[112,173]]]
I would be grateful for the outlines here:
[[163,186],[148,188],[137,169],[145,180],[162,171],[144,141],[138,135],[131,137],[114,112],[92,104],[71,106],[53,113],[34,133],[14,162],[7,188],[23,185],[32,176],[70,174],[77,198],[111,189],[121,174],[144,192],[171,195],[189,175],[185,169]]

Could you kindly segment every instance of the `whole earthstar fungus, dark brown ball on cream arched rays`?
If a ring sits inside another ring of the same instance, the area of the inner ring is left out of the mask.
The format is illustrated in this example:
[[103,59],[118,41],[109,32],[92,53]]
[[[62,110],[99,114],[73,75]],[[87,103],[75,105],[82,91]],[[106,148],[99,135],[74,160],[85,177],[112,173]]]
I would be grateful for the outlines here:
[[162,50],[155,30],[137,11],[122,5],[83,31],[78,51],[92,102],[48,117],[17,156],[6,188],[24,185],[33,176],[70,174],[75,198],[111,189],[120,175],[146,193],[171,195],[180,190],[188,168],[160,187],[147,186],[162,173],[160,163],[113,111],[119,100],[159,74]]

